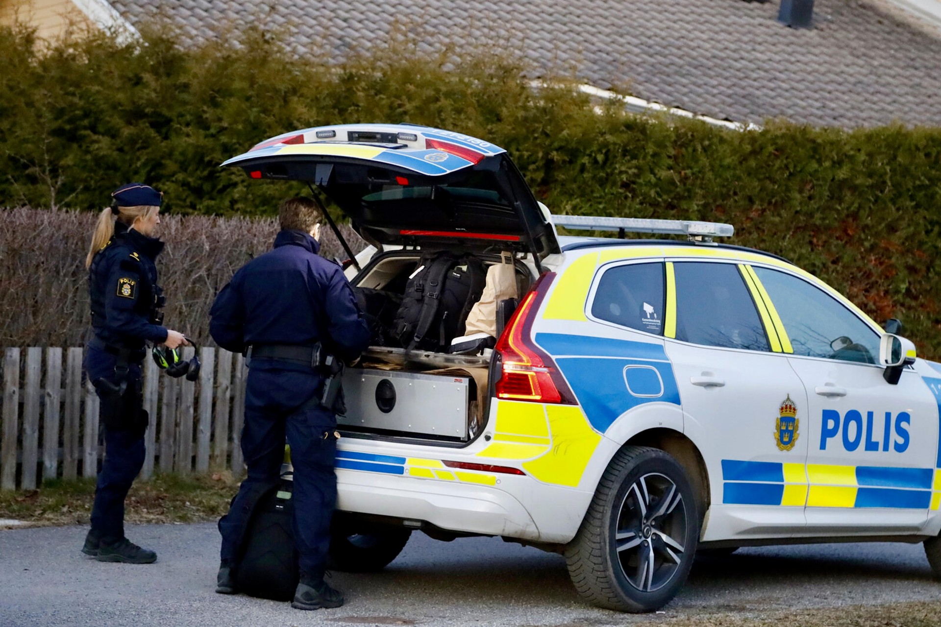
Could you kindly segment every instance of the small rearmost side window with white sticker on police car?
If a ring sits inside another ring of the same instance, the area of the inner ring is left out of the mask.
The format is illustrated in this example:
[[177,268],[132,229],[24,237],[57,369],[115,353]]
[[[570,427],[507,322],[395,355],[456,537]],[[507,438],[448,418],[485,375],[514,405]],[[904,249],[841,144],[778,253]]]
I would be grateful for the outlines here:
[[663,264],[633,263],[605,271],[591,315],[656,336],[663,335]]

